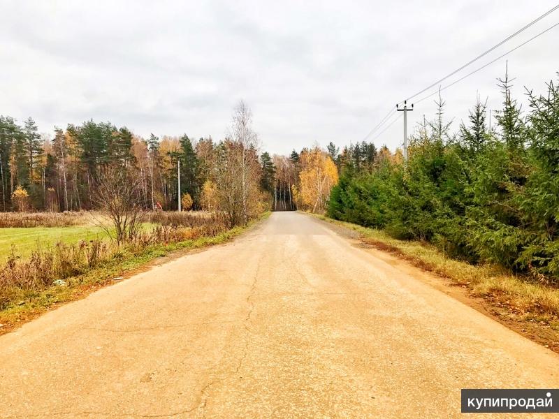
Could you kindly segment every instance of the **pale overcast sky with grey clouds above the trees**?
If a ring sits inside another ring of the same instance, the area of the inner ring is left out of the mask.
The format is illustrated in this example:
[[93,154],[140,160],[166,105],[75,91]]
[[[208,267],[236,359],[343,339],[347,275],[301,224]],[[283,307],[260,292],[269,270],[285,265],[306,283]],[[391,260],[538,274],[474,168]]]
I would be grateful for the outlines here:
[[[396,102],[556,0],[0,3],[0,114],[32,116],[41,132],[93,118],[144,137],[219,140],[244,99],[263,148],[286,154],[363,140]],[[557,22],[559,10],[449,81]],[[558,38],[556,27],[509,55],[522,101],[524,85],[557,79]],[[464,119],[478,91],[497,109],[504,68],[501,59],[444,91],[447,116]],[[416,105],[409,131],[434,110],[430,99]],[[402,119],[371,139],[395,149]]]

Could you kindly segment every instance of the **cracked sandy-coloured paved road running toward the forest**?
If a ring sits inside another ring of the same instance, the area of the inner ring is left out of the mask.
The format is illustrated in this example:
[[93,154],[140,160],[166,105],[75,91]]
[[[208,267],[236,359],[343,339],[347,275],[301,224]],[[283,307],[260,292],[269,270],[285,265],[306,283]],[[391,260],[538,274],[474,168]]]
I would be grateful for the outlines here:
[[0,337],[0,417],[449,418],[460,388],[559,387],[557,355],[404,271],[274,213]]

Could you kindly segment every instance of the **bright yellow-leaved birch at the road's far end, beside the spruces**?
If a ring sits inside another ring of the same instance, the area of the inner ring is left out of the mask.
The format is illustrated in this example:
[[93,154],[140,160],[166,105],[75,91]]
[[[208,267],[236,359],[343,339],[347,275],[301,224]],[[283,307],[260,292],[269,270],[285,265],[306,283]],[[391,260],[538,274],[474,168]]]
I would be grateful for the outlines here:
[[337,184],[337,168],[331,157],[319,147],[300,154],[299,185],[293,186],[298,207],[322,213]]

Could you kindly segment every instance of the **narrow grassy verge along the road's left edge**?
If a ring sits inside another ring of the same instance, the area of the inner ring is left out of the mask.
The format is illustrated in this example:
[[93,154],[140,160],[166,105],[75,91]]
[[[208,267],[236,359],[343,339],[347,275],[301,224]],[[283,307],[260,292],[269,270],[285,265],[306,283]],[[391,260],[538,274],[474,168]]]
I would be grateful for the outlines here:
[[244,233],[259,221],[266,219],[270,212],[264,213],[259,219],[251,221],[248,226],[235,227],[218,233],[213,237],[198,237],[192,240],[169,244],[153,244],[136,252],[123,250],[117,258],[113,258],[88,272],[64,279],[64,286],[50,286],[36,293],[28,293],[24,299],[14,301],[0,311],[0,335],[3,335],[25,321],[36,318],[48,309],[59,304],[78,300],[102,286],[113,284],[115,277],[133,274],[154,259],[161,256],[181,256],[184,251],[222,244],[233,237]]

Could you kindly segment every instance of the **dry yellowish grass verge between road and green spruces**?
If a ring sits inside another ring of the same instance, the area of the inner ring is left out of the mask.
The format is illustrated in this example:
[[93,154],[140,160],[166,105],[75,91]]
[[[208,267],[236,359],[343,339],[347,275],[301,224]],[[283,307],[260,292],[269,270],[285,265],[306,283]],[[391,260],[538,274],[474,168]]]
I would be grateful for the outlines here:
[[382,230],[318,216],[337,226],[354,230],[365,243],[409,260],[423,270],[435,272],[454,284],[469,288],[472,297],[483,297],[493,314],[514,321],[549,325],[559,330],[559,289],[518,277],[496,265],[471,265],[451,259],[430,244],[396,240]]

